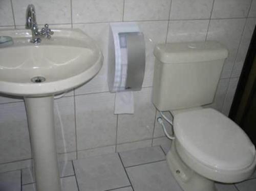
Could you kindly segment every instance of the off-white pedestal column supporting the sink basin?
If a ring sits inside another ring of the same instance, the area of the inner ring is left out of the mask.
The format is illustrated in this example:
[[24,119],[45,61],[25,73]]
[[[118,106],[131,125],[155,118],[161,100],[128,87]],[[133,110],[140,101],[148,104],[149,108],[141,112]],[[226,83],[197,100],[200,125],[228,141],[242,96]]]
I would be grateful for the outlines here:
[[25,97],[37,191],[60,191],[53,96]]

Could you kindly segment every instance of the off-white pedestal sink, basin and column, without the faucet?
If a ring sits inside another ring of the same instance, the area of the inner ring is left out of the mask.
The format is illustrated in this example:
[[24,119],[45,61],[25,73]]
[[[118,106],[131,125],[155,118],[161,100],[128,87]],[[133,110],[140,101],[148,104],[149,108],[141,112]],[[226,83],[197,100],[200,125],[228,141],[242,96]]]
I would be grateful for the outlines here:
[[29,30],[4,30],[13,44],[0,46],[0,92],[25,99],[37,191],[60,191],[54,133],[54,94],[92,79],[102,66],[96,43],[80,30],[53,30],[29,42]]

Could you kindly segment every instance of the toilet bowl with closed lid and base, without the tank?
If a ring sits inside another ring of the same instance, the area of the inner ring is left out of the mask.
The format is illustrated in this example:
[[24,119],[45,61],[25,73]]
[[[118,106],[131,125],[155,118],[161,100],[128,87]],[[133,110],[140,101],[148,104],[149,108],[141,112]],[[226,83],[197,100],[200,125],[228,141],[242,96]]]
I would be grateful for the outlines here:
[[183,190],[214,191],[214,181],[240,182],[254,171],[254,145],[239,126],[214,109],[176,114],[174,133],[166,158]]

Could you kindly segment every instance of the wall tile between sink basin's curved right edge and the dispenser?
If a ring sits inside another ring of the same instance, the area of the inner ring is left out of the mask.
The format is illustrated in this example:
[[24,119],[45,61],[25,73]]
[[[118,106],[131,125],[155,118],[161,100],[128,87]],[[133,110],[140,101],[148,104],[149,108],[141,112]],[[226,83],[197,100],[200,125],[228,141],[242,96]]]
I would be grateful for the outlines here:
[[73,28],[81,29],[92,37],[100,47],[104,61],[99,73],[86,84],[75,89],[75,94],[95,93],[109,91],[108,88],[108,43],[109,23],[75,24]]

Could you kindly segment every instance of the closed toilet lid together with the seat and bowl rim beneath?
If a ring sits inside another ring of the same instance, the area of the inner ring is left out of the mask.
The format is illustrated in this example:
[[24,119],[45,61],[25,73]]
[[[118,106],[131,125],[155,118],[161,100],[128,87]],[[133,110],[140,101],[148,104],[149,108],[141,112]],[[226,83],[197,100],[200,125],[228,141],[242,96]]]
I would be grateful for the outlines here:
[[174,132],[181,158],[210,179],[242,181],[254,169],[254,145],[238,125],[214,109],[178,113]]

